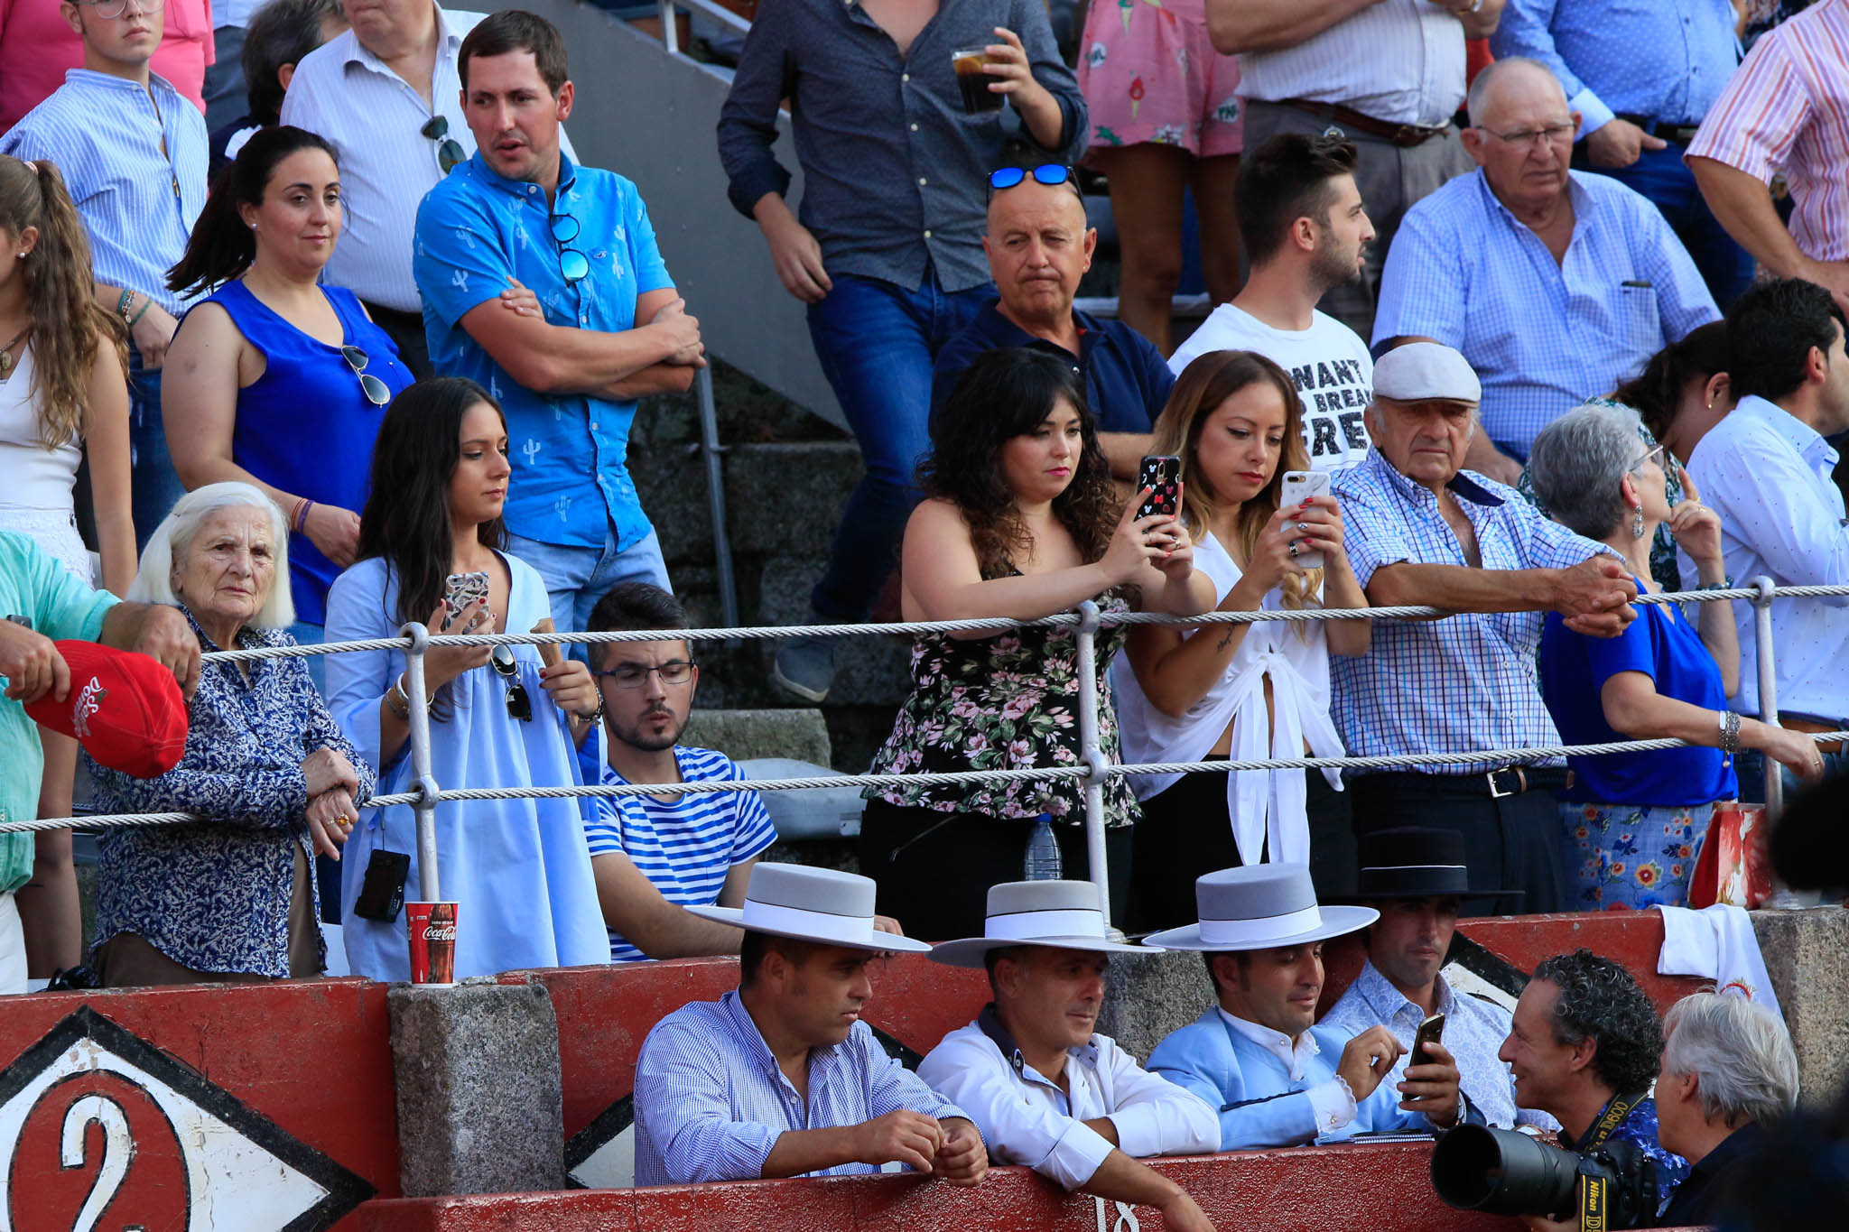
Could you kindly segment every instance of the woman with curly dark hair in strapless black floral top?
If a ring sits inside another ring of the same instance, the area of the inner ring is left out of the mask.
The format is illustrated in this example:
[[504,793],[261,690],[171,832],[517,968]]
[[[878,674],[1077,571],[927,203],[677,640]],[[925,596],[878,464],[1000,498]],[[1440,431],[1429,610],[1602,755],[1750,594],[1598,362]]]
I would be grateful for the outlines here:
[[[906,523],[906,621],[1037,621],[1095,598],[1106,615],[1193,615],[1213,604],[1174,517],[1120,506],[1071,364],[1039,351],[976,358],[932,423],[924,501]],[[1126,626],[1098,635],[1098,739],[1117,761],[1108,670]],[[875,774],[1076,767],[1078,641],[1071,628],[928,634],[912,648],[912,695]],[[1137,805],[1104,792],[1113,905],[1130,872]],[[1034,824],[1050,816],[1063,874],[1087,876],[1076,779],[869,791],[860,866],[908,936],[980,931],[989,887],[1021,877]]]

